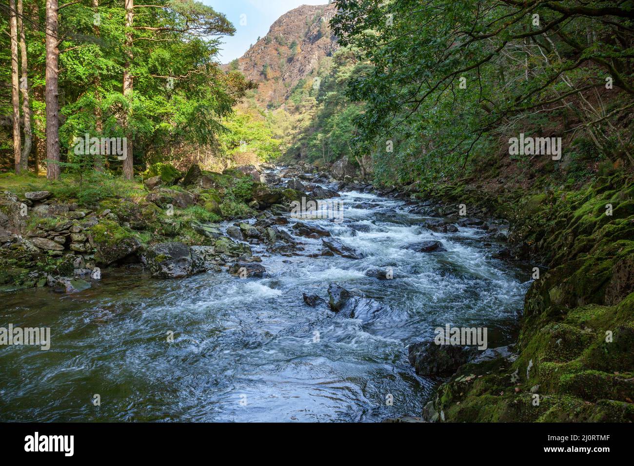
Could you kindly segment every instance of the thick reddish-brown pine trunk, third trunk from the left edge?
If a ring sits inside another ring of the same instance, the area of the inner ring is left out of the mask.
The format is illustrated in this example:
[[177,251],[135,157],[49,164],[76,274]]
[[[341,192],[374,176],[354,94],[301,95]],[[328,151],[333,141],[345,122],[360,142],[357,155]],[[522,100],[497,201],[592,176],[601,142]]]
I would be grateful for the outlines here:
[[46,0],[46,178],[59,179],[60,104],[58,96],[58,0]]

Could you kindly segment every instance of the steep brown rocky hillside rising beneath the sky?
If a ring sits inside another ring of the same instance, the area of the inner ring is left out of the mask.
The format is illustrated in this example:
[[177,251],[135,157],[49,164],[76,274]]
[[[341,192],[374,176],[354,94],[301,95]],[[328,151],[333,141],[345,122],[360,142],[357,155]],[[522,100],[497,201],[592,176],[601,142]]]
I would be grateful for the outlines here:
[[293,87],[325,56],[337,49],[328,22],[334,5],[302,5],[271,25],[242,57],[228,65],[259,83],[255,99],[262,107],[278,107]]

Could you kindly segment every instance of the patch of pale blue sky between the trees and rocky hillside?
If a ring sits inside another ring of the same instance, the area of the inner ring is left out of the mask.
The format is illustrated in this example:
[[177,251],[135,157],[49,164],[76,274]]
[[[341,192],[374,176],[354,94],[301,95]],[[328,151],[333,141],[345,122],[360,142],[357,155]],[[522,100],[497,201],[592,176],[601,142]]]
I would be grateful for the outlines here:
[[[219,56],[228,63],[243,55],[257,37],[264,37],[277,18],[300,5],[325,5],[328,0],[201,0],[219,13],[224,13],[236,29],[234,36],[222,37]],[[245,16],[241,16],[245,15]],[[245,25],[241,24],[246,22]]]

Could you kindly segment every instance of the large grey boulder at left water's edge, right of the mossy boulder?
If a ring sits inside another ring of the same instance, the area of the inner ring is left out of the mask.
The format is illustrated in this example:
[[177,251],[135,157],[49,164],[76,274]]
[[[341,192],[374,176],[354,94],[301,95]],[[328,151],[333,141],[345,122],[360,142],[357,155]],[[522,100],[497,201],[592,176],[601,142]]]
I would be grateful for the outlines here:
[[185,278],[204,271],[204,261],[183,243],[159,243],[148,247],[143,256],[152,276]]

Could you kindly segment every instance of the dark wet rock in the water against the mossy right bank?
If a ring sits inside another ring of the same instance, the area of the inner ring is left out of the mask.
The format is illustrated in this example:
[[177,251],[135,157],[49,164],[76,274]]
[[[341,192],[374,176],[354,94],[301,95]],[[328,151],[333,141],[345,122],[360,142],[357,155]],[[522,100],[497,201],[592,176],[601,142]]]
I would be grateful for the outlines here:
[[437,345],[426,341],[408,347],[408,359],[418,375],[449,375],[469,360],[474,349],[465,346]]

